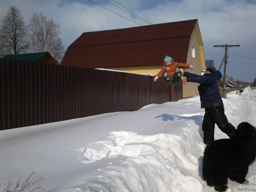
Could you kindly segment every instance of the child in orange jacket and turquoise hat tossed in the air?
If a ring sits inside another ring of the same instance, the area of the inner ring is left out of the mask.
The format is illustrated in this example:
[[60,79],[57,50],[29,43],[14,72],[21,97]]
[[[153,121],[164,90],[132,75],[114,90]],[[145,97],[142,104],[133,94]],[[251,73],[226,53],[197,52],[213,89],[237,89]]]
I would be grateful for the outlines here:
[[180,68],[188,69],[193,68],[190,64],[178,63],[174,62],[173,59],[169,56],[165,56],[164,58],[164,67],[159,71],[159,73],[155,76],[154,82],[164,76],[165,81],[168,84],[176,84],[180,81],[182,72]]

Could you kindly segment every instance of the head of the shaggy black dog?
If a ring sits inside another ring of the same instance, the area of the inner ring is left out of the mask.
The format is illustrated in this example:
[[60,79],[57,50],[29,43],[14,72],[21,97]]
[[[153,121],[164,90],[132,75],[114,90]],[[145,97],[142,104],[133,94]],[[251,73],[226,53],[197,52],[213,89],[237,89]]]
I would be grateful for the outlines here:
[[242,122],[237,127],[236,137],[242,137],[246,140],[256,142],[256,129],[250,123]]

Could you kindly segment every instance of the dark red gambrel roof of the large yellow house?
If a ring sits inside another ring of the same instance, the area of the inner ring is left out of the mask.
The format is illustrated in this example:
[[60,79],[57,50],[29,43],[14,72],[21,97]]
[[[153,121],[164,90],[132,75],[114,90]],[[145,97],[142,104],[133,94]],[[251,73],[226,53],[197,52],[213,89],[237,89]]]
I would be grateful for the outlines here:
[[166,55],[186,63],[197,23],[195,19],[85,32],[68,47],[61,64],[86,68],[152,66],[162,65]]

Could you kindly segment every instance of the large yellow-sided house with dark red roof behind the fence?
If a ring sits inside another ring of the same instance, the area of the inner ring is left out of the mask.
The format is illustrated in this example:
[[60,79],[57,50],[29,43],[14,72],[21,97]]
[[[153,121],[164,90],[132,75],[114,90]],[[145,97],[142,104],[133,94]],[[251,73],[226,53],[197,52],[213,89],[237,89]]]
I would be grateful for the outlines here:
[[[61,64],[155,76],[166,55],[194,66],[186,71],[201,74],[205,58],[197,19],[85,32],[68,47]],[[184,86],[183,97],[198,95],[197,86]]]

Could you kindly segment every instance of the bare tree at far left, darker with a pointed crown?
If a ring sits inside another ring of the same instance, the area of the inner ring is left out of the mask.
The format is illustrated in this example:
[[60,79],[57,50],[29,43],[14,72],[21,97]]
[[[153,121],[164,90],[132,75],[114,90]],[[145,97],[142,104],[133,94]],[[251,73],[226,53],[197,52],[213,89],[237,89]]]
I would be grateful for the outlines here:
[[20,10],[11,6],[1,22],[0,55],[26,52],[29,47],[27,34],[27,28]]

